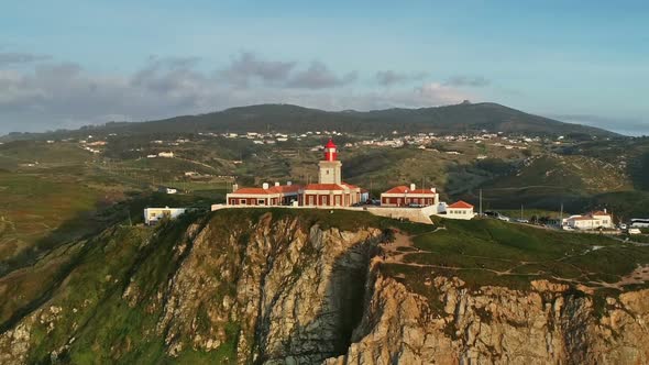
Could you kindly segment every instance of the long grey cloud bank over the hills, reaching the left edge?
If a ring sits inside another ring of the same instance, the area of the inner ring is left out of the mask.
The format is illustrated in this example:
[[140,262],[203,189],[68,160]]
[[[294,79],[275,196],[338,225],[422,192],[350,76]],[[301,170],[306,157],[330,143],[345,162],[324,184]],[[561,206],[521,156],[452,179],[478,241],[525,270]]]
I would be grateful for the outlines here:
[[[382,89],[356,85],[358,73],[333,73],[314,62],[264,60],[238,55],[229,69],[252,75],[240,87],[223,69],[205,70],[198,58],[151,57],[131,74],[100,74],[75,63],[0,67],[0,133],[55,130],[206,113],[254,103],[296,103],[326,110],[433,107],[474,99],[442,84]],[[230,74],[232,75],[232,74]]]

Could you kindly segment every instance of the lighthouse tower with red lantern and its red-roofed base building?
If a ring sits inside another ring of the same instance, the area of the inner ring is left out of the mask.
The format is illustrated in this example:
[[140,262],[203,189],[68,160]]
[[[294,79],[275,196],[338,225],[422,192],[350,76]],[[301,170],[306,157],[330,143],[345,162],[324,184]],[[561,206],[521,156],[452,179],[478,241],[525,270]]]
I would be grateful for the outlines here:
[[351,207],[361,201],[361,188],[342,181],[342,163],[333,141],[329,140],[324,146],[324,159],[318,167],[318,184],[309,184],[301,190],[302,206]]

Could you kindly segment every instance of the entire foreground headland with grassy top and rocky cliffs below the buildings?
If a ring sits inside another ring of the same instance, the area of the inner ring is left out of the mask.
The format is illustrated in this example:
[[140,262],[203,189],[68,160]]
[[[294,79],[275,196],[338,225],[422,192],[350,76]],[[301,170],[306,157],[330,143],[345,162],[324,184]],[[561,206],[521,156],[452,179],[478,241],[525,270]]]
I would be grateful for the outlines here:
[[0,362],[646,363],[649,247],[499,221],[223,210],[0,278]]

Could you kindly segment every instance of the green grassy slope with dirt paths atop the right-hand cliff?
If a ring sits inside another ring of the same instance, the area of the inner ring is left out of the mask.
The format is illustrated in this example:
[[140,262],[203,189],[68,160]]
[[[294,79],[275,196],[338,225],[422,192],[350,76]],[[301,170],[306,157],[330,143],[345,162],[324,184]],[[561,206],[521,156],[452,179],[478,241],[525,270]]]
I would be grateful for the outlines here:
[[[446,230],[415,236],[420,253],[406,264],[484,285],[529,289],[534,279],[597,287],[617,283],[638,265],[649,265],[649,247],[612,239],[510,224],[497,220],[441,220]],[[417,279],[417,278],[414,278]]]

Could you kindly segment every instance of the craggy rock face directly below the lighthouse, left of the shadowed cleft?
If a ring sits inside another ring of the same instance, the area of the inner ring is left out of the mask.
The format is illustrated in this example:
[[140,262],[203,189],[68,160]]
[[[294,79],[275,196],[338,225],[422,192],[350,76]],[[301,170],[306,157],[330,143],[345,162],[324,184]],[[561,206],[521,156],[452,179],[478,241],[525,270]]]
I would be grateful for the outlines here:
[[196,233],[167,283],[157,329],[168,354],[217,349],[229,340],[229,323],[239,328],[241,364],[316,363],[344,353],[382,232],[305,229],[270,215],[248,229],[222,236],[208,224]]

